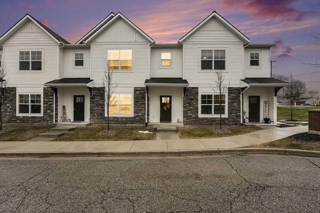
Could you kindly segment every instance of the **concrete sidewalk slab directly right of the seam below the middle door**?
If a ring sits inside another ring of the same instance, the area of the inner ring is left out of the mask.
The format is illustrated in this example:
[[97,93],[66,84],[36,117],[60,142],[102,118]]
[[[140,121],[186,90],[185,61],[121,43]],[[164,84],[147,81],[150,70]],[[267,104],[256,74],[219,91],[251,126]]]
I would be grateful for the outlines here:
[[167,140],[168,150],[205,149],[198,139]]

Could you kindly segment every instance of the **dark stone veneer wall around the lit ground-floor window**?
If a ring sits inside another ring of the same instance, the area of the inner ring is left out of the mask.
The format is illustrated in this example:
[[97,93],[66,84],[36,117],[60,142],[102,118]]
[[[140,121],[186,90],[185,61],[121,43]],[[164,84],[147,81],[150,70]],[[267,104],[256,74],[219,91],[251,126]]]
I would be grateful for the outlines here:
[[[110,124],[145,124],[145,90],[144,87],[134,87],[133,117],[109,117]],[[94,87],[90,97],[90,123],[106,124],[104,117],[104,88]]]

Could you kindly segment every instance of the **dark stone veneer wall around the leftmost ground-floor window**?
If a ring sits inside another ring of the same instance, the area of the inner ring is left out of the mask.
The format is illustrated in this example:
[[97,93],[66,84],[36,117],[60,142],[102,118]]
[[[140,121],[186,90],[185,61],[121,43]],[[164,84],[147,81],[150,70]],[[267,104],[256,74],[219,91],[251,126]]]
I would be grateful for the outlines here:
[[[53,123],[53,93],[43,88],[43,116],[15,116],[16,88],[7,87],[3,96],[3,123]],[[55,97],[55,122],[57,120],[57,97]]]

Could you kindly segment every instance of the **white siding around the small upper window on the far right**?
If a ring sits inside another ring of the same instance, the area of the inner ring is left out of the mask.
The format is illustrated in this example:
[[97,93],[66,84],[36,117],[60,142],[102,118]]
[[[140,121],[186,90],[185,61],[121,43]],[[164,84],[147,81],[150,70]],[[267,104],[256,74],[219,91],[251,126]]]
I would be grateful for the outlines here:
[[[250,66],[250,53],[259,53],[259,66]],[[270,49],[245,48],[244,49],[244,77],[245,78],[270,78]]]

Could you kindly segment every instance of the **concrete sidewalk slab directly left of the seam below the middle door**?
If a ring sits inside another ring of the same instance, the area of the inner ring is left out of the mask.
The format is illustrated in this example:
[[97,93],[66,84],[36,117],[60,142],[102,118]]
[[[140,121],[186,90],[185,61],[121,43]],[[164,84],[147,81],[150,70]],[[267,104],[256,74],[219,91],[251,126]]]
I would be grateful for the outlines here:
[[130,151],[159,151],[167,150],[165,140],[135,141]]

